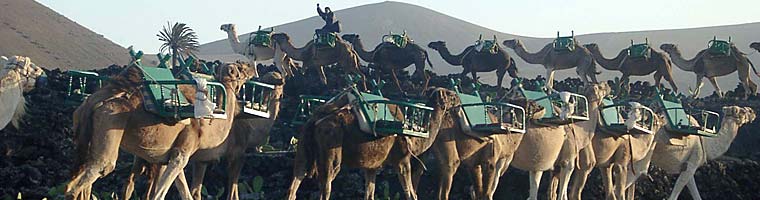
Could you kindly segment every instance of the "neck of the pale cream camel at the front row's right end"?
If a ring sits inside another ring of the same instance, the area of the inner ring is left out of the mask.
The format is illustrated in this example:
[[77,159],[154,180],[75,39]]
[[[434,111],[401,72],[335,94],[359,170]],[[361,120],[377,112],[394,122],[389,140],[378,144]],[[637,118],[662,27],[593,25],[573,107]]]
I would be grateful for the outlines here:
[[702,146],[707,154],[707,160],[718,158],[728,151],[728,148],[731,147],[731,142],[736,138],[739,126],[735,118],[724,117],[718,131],[718,136],[701,137]]

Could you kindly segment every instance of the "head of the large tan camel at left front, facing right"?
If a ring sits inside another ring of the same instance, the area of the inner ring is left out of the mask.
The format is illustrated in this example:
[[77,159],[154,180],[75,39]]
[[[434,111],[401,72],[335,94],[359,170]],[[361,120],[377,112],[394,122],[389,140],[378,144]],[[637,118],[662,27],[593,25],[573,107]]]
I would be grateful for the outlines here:
[[249,65],[248,63],[235,62],[225,63],[216,68],[215,77],[216,80],[220,80],[225,87],[232,87],[235,90],[248,81],[248,79],[259,77],[256,71],[255,65]]

